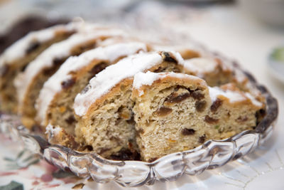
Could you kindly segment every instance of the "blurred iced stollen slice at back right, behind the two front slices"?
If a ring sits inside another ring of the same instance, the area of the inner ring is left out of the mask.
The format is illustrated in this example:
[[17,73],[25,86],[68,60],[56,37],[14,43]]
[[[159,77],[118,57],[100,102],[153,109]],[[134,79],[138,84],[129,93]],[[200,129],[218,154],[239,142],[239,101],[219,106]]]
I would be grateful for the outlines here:
[[254,80],[249,73],[242,72],[239,65],[234,61],[219,55],[209,54],[200,58],[185,60],[182,65],[182,73],[196,75],[207,82],[207,85],[221,86],[233,83],[239,90],[251,94],[259,102],[265,103],[265,98],[261,92],[253,87],[250,80]]

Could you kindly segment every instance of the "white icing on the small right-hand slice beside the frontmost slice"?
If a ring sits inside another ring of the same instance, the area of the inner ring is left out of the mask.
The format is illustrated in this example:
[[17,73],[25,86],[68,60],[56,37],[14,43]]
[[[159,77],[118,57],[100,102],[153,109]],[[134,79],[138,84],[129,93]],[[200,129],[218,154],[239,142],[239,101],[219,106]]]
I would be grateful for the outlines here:
[[258,102],[250,93],[242,93],[238,91],[233,90],[222,90],[219,87],[208,87],[209,88],[209,95],[211,97],[212,102],[217,100],[217,97],[220,95],[226,97],[229,99],[229,102],[242,102],[244,100],[251,100],[251,103],[253,105],[256,105],[257,107],[261,107],[262,103]]

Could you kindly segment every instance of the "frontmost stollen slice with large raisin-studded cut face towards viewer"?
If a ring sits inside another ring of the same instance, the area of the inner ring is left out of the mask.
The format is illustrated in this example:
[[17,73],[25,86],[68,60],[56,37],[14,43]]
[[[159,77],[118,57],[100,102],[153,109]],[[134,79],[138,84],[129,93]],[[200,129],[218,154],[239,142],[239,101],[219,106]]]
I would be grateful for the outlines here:
[[207,84],[182,73],[138,73],[131,99],[141,159],[197,147],[204,142],[205,115],[211,105]]

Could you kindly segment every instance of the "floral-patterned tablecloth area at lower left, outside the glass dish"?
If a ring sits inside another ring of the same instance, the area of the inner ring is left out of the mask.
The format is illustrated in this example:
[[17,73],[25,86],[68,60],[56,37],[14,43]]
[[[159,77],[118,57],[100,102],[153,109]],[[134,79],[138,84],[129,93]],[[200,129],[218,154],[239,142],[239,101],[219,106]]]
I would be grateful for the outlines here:
[[77,189],[84,186],[83,179],[59,170],[31,154],[21,144],[0,134],[0,189],[50,189],[62,186]]

